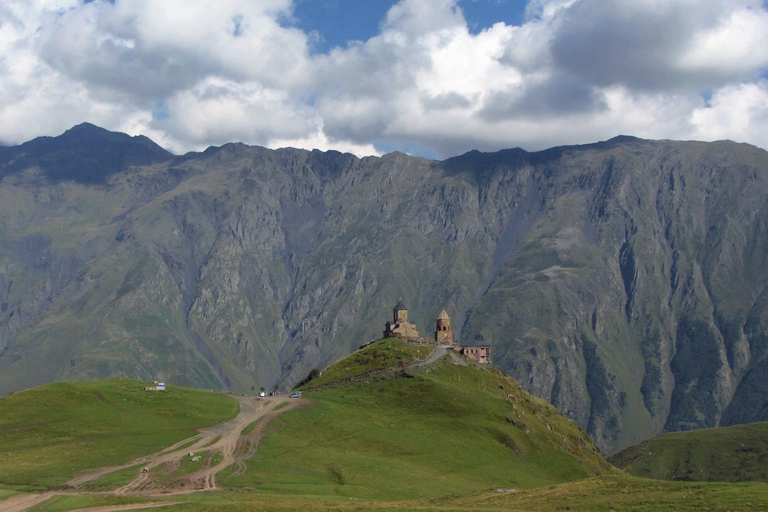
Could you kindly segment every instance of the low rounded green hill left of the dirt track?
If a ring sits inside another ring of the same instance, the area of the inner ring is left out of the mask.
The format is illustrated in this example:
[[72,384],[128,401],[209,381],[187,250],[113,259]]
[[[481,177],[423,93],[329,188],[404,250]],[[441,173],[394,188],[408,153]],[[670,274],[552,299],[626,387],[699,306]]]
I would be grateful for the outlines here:
[[231,398],[116,378],[59,382],[0,400],[0,486],[37,490],[154,453],[238,411]]

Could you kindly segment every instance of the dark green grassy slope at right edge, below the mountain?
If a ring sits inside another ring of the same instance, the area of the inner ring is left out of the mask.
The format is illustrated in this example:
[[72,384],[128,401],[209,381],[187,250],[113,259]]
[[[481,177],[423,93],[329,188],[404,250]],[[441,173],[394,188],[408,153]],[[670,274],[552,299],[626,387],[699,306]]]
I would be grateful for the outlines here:
[[662,480],[768,482],[768,422],[662,434],[610,460]]

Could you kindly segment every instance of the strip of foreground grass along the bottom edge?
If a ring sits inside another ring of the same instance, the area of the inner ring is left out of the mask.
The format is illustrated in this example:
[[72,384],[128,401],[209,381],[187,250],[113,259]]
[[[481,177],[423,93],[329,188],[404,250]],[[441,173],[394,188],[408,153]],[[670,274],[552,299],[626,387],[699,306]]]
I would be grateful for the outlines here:
[[[286,495],[268,492],[216,492],[153,499],[179,503],[173,512],[223,511],[457,511],[510,512],[752,512],[768,508],[768,485],[762,483],[692,483],[648,480],[624,475],[590,478],[536,489],[486,488],[464,495],[448,493],[427,499],[381,501],[327,495]],[[56,497],[33,509],[60,512],[86,506],[136,503],[137,498],[108,496]],[[164,509],[159,509],[164,510]]]

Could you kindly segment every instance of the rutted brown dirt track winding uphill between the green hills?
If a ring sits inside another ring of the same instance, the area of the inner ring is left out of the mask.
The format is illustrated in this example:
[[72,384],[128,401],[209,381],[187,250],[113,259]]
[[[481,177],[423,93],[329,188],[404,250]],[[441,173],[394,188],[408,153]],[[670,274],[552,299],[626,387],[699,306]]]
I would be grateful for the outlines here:
[[[122,466],[110,466],[88,471],[67,482],[66,486],[71,490],[12,496],[7,500],[0,501],[0,510],[3,512],[22,512],[57,495],[90,494],[83,492],[79,487],[109,473],[137,465],[141,465],[149,471],[147,473],[139,472],[132,482],[109,494],[160,497],[214,490],[217,488],[216,475],[222,470],[235,465],[236,472],[245,471],[245,459],[256,452],[267,424],[275,416],[306,403],[306,400],[301,398],[289,399],[287,397],[270,397],[264,400],[257,400],[252,397],[235,398],[240,402],[240,413],[231,421],[202,429],[196,436],[179,441],[155,454]],[[275,411],[275,408],[280,404],[284,405]],[[243,430],[255,422],[255,427],[244,435]],[[180,448],[182,446],[184,448]],[[202,455],[201,452],[205,454]],[[182,459],[189,453],[199,454],[203,457],[202,467],[188,475],[174,476],[174,473],[181,467]],[[215,462],[217,458],[220,460]],[[139,506],[123,505],[81,510],[113,512],[169,505],[173,505],[173,503],[145,503]]]

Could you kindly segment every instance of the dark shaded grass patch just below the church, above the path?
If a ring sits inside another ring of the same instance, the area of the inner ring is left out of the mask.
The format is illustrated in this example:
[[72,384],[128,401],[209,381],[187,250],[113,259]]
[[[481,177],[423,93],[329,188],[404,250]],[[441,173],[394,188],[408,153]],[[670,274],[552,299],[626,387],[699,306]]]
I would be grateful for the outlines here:
[[378,340],[326,368],[302,389],[323,386],[369,372],[411,364],[429,355],[434,347],[412,346],[398,338]]

